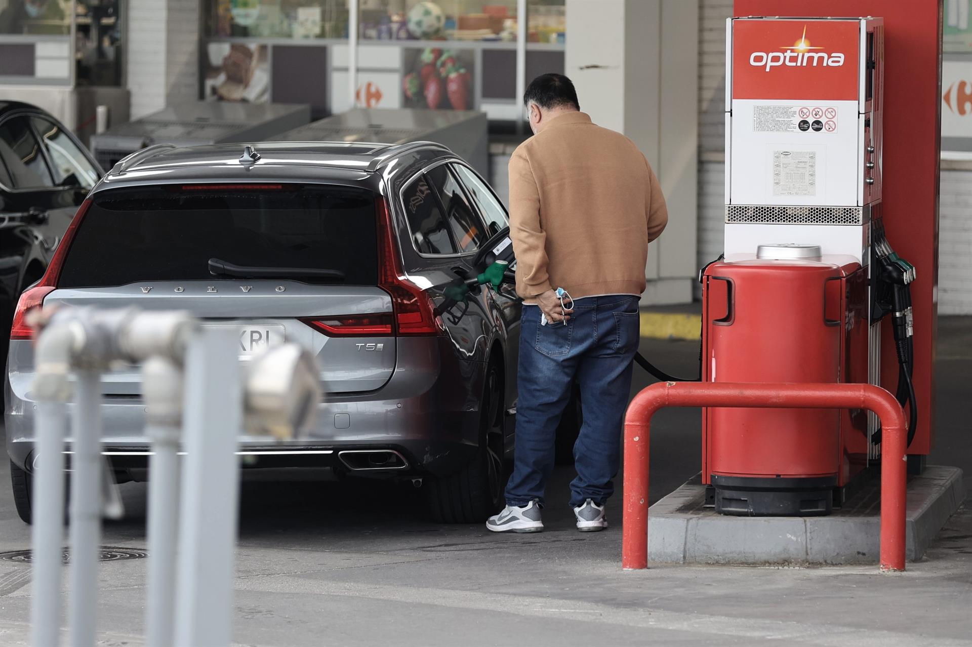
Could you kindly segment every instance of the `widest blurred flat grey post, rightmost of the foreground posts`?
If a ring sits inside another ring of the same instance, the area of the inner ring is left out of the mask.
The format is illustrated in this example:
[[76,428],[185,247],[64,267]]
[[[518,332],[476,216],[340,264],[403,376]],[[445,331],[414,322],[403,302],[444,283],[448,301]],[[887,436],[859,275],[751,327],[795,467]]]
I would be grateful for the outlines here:
[[228,645],[243,392],[235,340],[204,328],[186,358],[185,469],[179,520],[177,645]]

